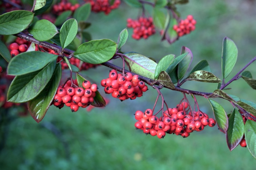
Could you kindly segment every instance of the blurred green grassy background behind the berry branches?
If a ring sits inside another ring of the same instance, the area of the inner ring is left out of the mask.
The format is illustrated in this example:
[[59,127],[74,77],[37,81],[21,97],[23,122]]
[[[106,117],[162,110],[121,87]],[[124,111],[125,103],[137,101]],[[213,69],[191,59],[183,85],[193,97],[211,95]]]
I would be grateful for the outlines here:
[[[122,47],[123,52],[136,51],[144,56],[153,57],[156,62],[167,55],[179,55],[181,47],[191,49],[194,59],[190,70],[202,59],[208,60],[212,73],[222,78],[221,52],[224,37],[232,39],[238,48],[238,61],[227,78],[231,79],[256,55],[256,2],[254,0],[215,0],[191,1],[177,5],[181,18],[193,15],[197,20],[196,29],[181,37],[172,45],[161,42],[156,33],[147,40],[136,41],[131,38]],[[146,6],[151,13],[152,7]],[[94,40],[111,39],[117,42],[119,33],[126,28],[126,19],[135,19],[141,10],[127,6],[123,1],[118,9],[109,15],[92,13],[88,31]],[[113,61],[121,66],[121,59]],[[253,78],[256,74],[255,63],[246,70]],[[100,84],[108,77],[110,69],[104,66],[81,72],[85,78]],[[190,71],[189,70],[189,71]],[[64,72],[63,72],[64,73]],[[68,77],[68,75],[67,75]],[[185,82],[183,88],[201,92],[213,92],[216,83]],[[256,92],[243,79],[229,85],[228,94],[256,102]],[[3,170],[44,170],[44,169],[255,169],[255,159],[247,148],[238,146],[232,152],[228,149],[225,134],[218,127],[206,126],[201,132],[193,132],[188,138],[166,135],[158,139],[135,130],[134,113],[153,108],[157,92],[150,88],[136,100],[120,102],[105,95],[110,100],[105,108],[93,108],[90,112],[80,108],[72,113],[69,108],[51,106],[40,123],[31,116],[15,117],[1,130],[4,148],[0,151],[0,169]],[[162,89],[169,107],[176,107],[182,93]],[[193,103],[190,96],[187,96]],[[197,97],[200,110],[213,117],[208,100]],[[225,111],[230,113],[232,105],[221,102]],[[157,104],[156,110],[160,108]],[[15,108],[13,108],[13,113]],[[12,116],[12,112],[11,112]],[[3,141],[3,139],[5,139]]]

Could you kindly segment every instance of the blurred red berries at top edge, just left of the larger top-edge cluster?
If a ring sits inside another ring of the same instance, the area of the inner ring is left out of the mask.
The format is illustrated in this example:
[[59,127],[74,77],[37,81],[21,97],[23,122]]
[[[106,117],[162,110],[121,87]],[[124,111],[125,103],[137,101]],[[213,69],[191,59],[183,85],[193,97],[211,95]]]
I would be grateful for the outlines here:
[[80,5],[78,3],[72,5],[72,3],[67,2],[67,0],[61,0],[60,3],[53,5],[53,13],[60,15],[62,12],[66,10],[71,10],[72,12],[74,12],[79,7]]

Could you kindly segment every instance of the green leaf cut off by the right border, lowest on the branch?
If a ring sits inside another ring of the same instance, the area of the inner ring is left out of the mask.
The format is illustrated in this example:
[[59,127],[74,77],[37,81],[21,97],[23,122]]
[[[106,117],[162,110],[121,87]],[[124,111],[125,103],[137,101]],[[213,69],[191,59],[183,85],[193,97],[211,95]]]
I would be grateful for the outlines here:
[[247,148],[256,159],[256,122],[247,120],[244,126],[244,136]]

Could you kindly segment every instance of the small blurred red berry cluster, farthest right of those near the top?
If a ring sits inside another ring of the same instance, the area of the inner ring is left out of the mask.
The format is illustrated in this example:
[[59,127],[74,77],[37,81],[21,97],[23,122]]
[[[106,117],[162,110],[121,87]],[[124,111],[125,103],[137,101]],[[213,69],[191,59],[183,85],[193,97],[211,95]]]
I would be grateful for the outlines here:
[[195,30],[195,25],[196,20],[193,19],[192,15],[188,15],[185,20],[181,20],[178,25],[174,25],[173,29],[177,32],[178,36],[181,37]]

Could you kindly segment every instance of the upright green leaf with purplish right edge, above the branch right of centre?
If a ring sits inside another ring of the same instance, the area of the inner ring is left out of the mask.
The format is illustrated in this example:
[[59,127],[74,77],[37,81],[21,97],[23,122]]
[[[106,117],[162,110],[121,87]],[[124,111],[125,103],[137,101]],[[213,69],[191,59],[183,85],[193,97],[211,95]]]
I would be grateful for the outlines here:
[[189,66],[190,66],[190,64],[192,62],[192,59],[193,59],[193,54],[192,54],[191,50],[187,47],[182,46],[181,54],[184,54],[184,53],[188,53],[188,55],[186,55],[178,65],[178,78],[179,78],[179,80],[184,77],[184,75],[188,71]]

